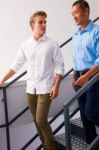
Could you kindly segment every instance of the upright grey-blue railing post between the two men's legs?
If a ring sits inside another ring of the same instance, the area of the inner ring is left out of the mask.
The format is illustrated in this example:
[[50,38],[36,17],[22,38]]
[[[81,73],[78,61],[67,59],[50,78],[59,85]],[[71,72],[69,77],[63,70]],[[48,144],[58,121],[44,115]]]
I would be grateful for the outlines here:
[[69,106],[68,105],[64,105],[64,124],[65,124],[66,150],[72,150],[71,126],[70,126],[70,116],[69,116]]

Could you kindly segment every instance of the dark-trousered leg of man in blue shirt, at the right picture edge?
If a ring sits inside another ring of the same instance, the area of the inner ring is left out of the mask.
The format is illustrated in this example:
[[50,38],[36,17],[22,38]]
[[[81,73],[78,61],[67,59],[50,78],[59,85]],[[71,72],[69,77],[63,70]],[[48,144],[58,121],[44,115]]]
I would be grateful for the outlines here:
[[99,126],[99,81],[87,91],[85,114],[87,119]]

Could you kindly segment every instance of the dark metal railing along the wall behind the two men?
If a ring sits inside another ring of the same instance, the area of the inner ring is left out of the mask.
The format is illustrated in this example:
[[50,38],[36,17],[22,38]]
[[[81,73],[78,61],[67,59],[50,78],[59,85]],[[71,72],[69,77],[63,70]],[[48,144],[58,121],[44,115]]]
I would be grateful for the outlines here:
[[[99,17],[97,17],[93,22],[96,22],[97,20],[99,20]],[[64,45],[66,45],[67,43],[69,43],[72,40],[72,37],[70,37],[67,41],[65,41],[63,44],[60,45],[60,48],[62,48]],[[67,77],[73,69],[70,69],[64,76]],[[6,141],[7,141],[7,150],[11,150],[10,147],[10,132],[9,132],[9,126],[15,122],[19,117],[21,117],[27,110],[28,110],[28,106],[26,108],[24,108],[18,115],[16,115],[12,120],[9,121],[9,117],[8,117],[8,104],[7,104],[7,95],[6,95],[6,89],[11,86],[13,83],[15,83],[18,79],[20,79],[21,77],[23,77],[26,74],[26,71],[23,72],[21,75],[19,75],[18,77],[16,77],[14,80],[12,80],[10,83],[8,83],[7,85],[0,87],[0,90],[3,91],[3,99],[2,101],[4,102],[4,111],[5,111],[5,124],[1,124],[0,128],[6,128]],[[64,79],[63,78],[63,79]],[[54,118],[52,118],[52,120],[50,121],[50,123],[52,123],[61,113],[63,112],[63,110],[61,110]],[[57,131],[57,130],[56,130]],[[56,132],[55,131],[55,132]],[[36,138],[38,137],[38,134],[34,135],[34,137],[32,139],[29,140],[29,142],[27,142],[21,150],[24,150],[26,147],[28,147]]]

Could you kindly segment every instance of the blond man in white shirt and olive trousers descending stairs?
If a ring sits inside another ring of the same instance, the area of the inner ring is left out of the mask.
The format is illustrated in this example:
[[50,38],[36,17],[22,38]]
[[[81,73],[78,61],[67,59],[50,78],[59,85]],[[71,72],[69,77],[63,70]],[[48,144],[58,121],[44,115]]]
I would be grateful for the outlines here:
[[64,63],[57,41],[47,37],[47,14],[35,12],[30,18],[32,36],[25,41],[0,86],[12,77],[27,61],[27,97],[30,111],[44,150],[55,150],[54,137],[47,121],[52,99],[59,92]]

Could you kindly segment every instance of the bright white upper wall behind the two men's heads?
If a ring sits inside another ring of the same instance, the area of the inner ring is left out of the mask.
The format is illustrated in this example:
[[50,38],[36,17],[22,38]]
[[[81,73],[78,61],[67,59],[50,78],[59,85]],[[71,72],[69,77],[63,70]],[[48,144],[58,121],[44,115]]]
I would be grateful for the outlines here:
[[[21,43],[31,35],[29,17],[35,10],[48,14],[47,34],[59,43],[72,36],[76,26],[71,16],[74,0],[0,0],[0,77],[14,61]],[[91,18],[98,16],[98,0],[88,0]],[[71,44],[62,49],[66,70],[71,68]]]

